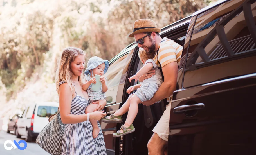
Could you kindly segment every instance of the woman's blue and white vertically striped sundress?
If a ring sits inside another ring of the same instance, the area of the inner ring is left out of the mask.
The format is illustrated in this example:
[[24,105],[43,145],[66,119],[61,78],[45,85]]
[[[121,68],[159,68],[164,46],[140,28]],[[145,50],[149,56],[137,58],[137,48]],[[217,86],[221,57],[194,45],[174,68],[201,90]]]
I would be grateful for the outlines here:
[[[60,84],[65,83],[61,81]],[[71,103],[71,114],[82,115],[89,100],[76,95]],[[100,123],[98,122],[100,128]],[[66,124],[62,141],[62,155],[106,155],[104,137],[100,128],[98,137],[93,138],[93,126],[90,121]]]

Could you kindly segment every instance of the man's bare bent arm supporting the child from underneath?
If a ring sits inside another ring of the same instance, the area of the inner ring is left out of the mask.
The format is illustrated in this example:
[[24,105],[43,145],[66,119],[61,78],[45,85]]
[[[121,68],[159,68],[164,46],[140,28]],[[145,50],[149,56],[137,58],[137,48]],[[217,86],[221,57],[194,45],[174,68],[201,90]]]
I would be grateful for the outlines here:
[[162,68],[165,81],[161,84],[158,91],[154,94],[151,100],[143,102],[144,105],[152,105],[157,101],[163,100],[173,94],[176,90],[177,77],[178,77],[178,64],[171,62]]

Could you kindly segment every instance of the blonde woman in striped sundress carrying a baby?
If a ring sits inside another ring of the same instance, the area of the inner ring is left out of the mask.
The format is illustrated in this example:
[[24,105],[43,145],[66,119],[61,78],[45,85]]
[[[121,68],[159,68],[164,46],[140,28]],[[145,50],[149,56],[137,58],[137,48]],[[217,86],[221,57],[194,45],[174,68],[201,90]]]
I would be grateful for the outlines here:
[[[103,134],[100,128],[98,137],[92,136],[92,125],[89,120],[100,120],[106,113],[95,111],[85,114],[89,105],[89,97],[82,90],[84,69],[84,51],[75,47],[65,48],[62,52],[56,73],[56,86],[59,94],[60,117],[66,124],[62,141],[62,155],[102,155],[106,154]],[[98,109],[106,104],[98,102]],[[96,110],[98,110],[96,109]]]

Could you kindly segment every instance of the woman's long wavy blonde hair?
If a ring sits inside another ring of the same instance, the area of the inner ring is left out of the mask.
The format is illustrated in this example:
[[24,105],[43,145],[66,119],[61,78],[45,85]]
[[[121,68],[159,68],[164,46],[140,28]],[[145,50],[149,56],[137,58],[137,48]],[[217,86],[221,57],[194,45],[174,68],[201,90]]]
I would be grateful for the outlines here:
[[[61,58],[59,59],[57,63],[57,71],[56,71],[56,76],[55,76],[55,84],[57,87],[57,92],[58,95],[59,93],[59,88],[60,88],[60,81],[65,81],[68,83],[72,93],[75,93],[75,87],[72,84],[72,76],[74,75],[73,72],[71,71],[71,62],[75,60],[75,58],[78,55],[85,55],[84,51],[81,50],[80,48],[76,47],[67,47],[63,50],[61,54]],[[78,76],[78,81],[80,85],[82,86],[82,79],[83,79],[83,74],[81,76]]]

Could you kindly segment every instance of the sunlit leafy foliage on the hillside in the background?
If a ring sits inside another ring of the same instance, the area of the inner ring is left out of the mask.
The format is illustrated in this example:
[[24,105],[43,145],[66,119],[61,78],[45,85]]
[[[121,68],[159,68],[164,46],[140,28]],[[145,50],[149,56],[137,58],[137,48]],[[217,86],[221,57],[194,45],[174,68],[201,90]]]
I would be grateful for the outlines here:
[[[163,27],[209,2],[4,0],[0,4],[0,92],[6,100],[15,100],[31,84],[40,86],[39,80],[42,88],[45,83],[53,83],[57,59],[67,46],[85,50],[86,62],[95,55],[110,60],[134,41],[128,34],[135,20],[150,18]],[[44,89],[41,91],[48,91]]]

